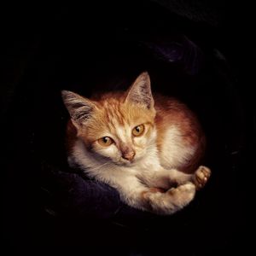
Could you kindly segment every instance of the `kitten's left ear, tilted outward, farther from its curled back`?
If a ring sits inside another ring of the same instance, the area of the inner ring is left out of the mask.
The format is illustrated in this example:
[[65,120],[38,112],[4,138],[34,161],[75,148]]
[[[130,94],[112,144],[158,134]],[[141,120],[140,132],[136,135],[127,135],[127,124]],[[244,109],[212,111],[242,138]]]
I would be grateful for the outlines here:
[[93,102],[69,90],[62,90],[61,95],[73,125],[82,125],[90,119],[93,109],[96,108]]

